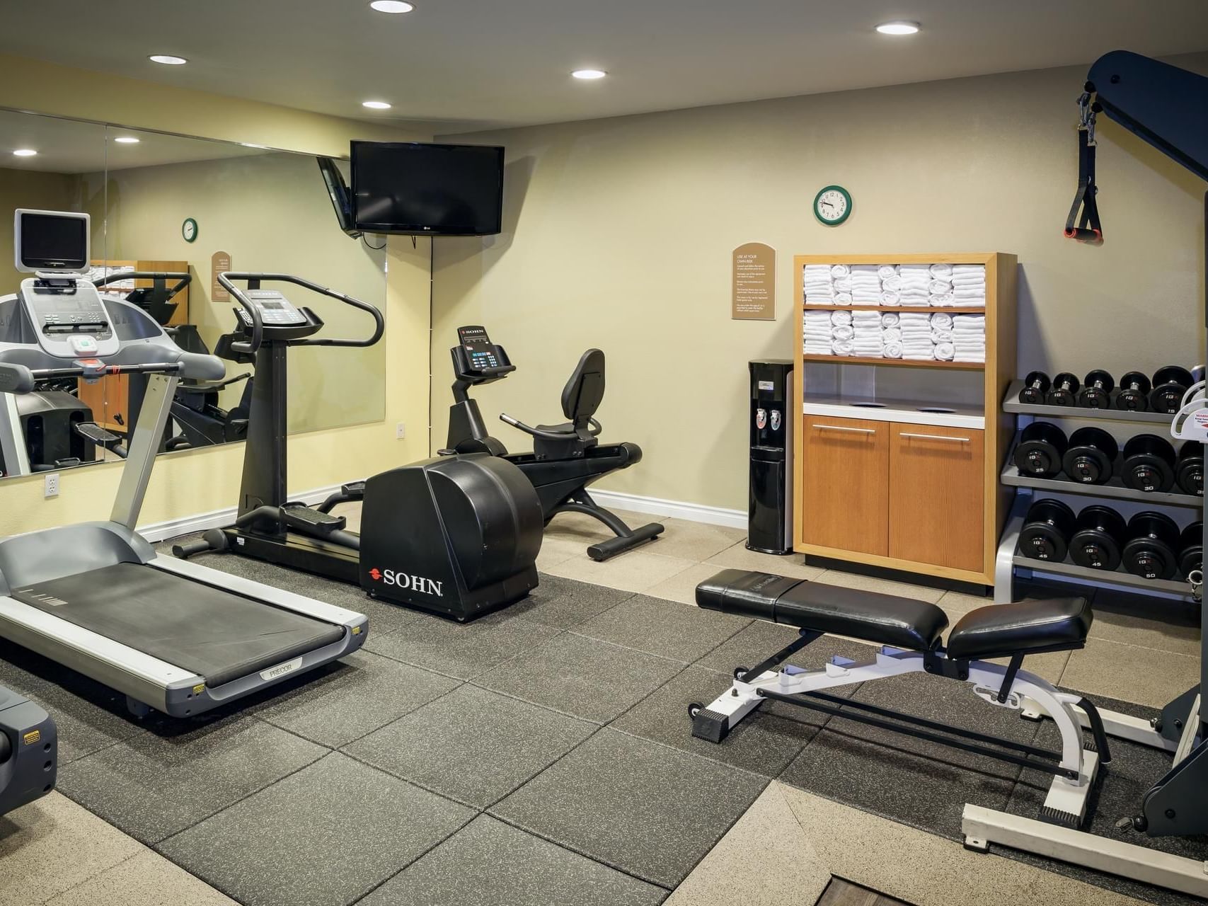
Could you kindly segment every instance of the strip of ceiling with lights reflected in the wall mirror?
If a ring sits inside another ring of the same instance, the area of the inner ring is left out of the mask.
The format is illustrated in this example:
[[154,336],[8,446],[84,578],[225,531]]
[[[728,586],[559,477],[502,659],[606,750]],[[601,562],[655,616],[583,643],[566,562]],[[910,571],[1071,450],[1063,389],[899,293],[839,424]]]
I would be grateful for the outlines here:
[[[120,135],[139,141],[134,145],[114,141]],[[12,152],[17,149],[33,149],[37,155],[16,157]],[[0,168],[10,170],[101,173],[263,153],[268,151],[226,141],[106,129],[97,123],[0,110]]]

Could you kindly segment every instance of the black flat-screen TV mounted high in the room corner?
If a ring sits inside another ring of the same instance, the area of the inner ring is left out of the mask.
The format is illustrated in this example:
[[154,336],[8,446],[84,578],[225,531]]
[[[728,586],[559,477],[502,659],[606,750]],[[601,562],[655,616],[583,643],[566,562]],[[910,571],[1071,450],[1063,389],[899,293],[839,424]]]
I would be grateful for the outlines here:
[[353,221],[366,233],[493,236],[503,230],[504,149],[352,143]]

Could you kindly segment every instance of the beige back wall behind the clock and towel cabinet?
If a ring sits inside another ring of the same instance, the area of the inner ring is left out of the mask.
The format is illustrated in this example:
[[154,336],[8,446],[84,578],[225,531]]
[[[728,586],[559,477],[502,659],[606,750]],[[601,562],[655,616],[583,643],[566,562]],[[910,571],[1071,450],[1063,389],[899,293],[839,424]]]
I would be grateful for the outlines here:
[[[1177,60],[1208,71],[1208,57]],[[745,509],[747,361],[792,353],[795,254],[1020,256],[1020,370],[1151,371],[1203,359],[1203,190],[1114,123],[1100,126],[1108,244],[1061,228],[1078,175],[1085,68],[908,85],[461,135],[507,147],[505,230],[435,246],[432,436],[445,439],[448,348],[484,324],[518,366],[478,394],[559,418],[580,353],[609,355],[606,439],[645,451],[602,487]],[[853,215],[819,225],[819,187]],[[730,320],[730,251],[779,251],[776,323]]]

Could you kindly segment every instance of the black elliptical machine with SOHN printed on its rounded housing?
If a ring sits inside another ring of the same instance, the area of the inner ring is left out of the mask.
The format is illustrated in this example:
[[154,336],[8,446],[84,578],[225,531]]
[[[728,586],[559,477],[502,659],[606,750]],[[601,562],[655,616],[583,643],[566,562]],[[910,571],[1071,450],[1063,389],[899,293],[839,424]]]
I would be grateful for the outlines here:
[[[246,284],[246,289],[234,281]],[[289,283],[373,316],[366,339],[316,337],[323,320],[265,281]],[[286,353],[290,347],[370,347],[382,338],[377,308],[301,277],[223,273],[219,283],[262,315],[243,483],[236,524],[173,547],[178,557],[232,551],[360,585],[371,597],[464,621],[536,587],[541,504],[521,471],[486,454],[425,459],[345,484],[320,506],[286,498]],[[236,309],[243,314],[243,309]],[[244,326],[248,319],[243,319]],[[361,532],[338,503],[362,500]]]

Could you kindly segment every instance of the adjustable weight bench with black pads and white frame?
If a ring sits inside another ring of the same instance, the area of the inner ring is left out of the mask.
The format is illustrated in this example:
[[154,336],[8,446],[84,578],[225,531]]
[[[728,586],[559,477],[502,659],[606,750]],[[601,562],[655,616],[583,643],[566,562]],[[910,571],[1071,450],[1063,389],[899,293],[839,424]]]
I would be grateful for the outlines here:
[[[1021,669],[1021,663],[1027,655],[1082,647],[1092,618],[1085,598],[977,608],[952,628],[947,647],[941,644],[947,615],[935,604],[912,598],[727,569],[697,586],[696,602],[709,610],[794,626],[800,635],[757,666],[737,668],[731,687],[710,704],[690,705],[693,736],[721,742],[738,721],[771,698],[1052,774],[1040,820],[1068,829],[1082,825],[1098,766],[1110,760],[1103,722],[1091,702],[1056,690]],[[864,662],[836,656],[819,669],[784,664],[826,633],[879,643],[882,647]],[[991,663],[987,658],[992,657],[1009,657],[1010,663]],[[1061,732],[1061,750],[827,692],[906,673],[968,683],[974,695],[991,705],[1029,716],[1043,713]],[[1093,736],[1090,749],[1084,748],[1084,724]],[[966,846],[985,848],[983,841],[968,830]]]

